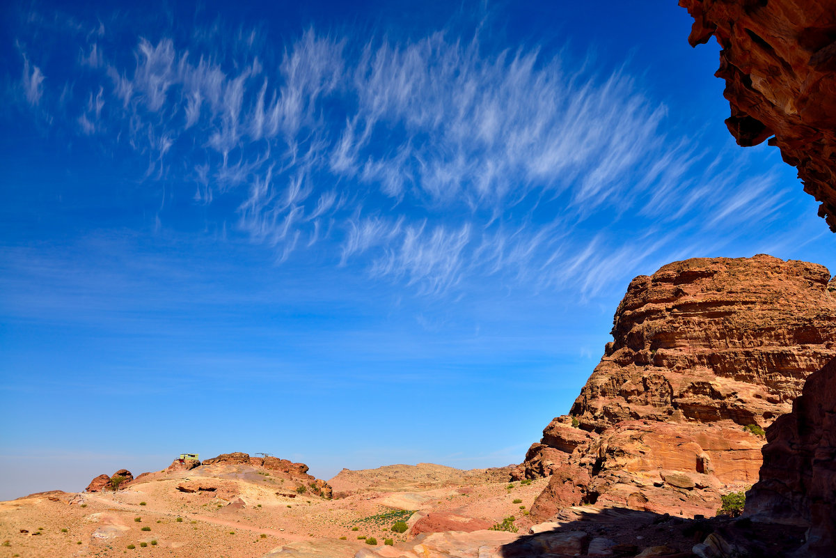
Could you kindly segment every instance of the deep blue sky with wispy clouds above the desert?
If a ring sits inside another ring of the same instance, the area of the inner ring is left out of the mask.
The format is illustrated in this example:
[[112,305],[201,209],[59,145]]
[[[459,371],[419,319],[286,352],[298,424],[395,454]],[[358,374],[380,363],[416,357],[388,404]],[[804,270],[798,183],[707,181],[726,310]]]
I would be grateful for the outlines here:
[[836,268],[675,3],[7,3],[0,498],[518,463],[630,279]]

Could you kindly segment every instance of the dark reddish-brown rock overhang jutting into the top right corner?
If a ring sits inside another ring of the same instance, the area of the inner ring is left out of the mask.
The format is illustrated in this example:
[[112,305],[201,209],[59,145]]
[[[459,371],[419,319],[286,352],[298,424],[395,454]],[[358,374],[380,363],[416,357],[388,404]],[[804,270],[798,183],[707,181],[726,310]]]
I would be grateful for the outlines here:
[[713,35],[722,47],[715,75],[726,80],[737,143],[778,146],[836,232],[836,2],[679,3],[694,18],[691,45]]

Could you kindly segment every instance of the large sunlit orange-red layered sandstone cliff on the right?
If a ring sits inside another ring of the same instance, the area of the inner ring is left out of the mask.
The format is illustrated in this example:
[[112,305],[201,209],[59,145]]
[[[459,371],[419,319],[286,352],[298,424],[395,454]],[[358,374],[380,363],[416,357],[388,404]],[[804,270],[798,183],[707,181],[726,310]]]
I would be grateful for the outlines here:
[[714,514],[720,494],[756,482],[762,428],[836,356],[829,280],[823,266],[766,255],[634,279],[571,414],[512,473],[552,475],[532,515],[595,503]]

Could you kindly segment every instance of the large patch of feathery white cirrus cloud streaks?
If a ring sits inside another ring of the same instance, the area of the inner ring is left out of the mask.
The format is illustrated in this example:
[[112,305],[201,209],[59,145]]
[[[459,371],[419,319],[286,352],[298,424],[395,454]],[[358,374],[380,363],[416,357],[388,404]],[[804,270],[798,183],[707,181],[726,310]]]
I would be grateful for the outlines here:
[[[488,276],[593,295],[697,229],[722,238],[782,203],[768,172],[739,180],[739,157],[671,131],[626,65],[451,31],[308,28],[275,49],[220,23],[128,44],[81,29],[65,40],[84,79],[46,82],[24,56],[28,103],[61,89],[65,127],[129,146],[142,180],[221,207],[279,261],[316,249],[433,295]],[[658,223],[673,224],[645,238]]]

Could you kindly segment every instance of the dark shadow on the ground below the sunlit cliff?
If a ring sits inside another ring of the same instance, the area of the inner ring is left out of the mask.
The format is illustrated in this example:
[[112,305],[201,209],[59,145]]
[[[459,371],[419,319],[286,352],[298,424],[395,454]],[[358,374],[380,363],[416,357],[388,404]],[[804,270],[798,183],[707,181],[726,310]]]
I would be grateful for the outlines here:
[[634,509],[562,512],[558,527],[500,548],[503,558],[624,556],[651,558],[779,558],[803,544],[804,529],[745,518],[685,519]]

